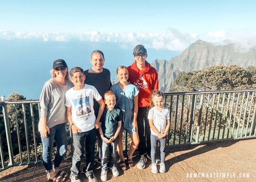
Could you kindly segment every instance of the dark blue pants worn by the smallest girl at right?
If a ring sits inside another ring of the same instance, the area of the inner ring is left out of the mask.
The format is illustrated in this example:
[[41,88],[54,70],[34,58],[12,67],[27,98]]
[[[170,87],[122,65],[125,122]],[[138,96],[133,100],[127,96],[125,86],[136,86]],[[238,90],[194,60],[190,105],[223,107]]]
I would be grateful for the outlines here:
[[159,138],[156,135],[151,134],[151,161],[155,164],[155,153],[157,152],[158,141],[160,141],[160,155],[161,162],[165,162],[165,149],[167,142],[167,135],[163,138]]

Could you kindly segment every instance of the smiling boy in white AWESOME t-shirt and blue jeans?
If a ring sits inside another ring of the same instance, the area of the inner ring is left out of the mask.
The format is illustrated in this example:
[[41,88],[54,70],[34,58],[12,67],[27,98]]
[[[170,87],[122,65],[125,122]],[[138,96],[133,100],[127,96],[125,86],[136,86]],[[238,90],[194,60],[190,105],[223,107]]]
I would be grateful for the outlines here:
[[[94,144],[96,139],[96,129],[99,127],[105,104],[101,95],[94,86],[84,84],[85,75],[83,69],[74,67],[70,70],[71,81],[75,86],[69,89],[65,95],[66,114],[73,133],[74,154],[70,179],[71,182],[81,181],[80,173],[81,159],[84,155],[84,145],[86,149],[86,176],[90,181],[97,181],[93,174],[94,166]],[[99,103],[97,118],[94,115],[93,99]]]

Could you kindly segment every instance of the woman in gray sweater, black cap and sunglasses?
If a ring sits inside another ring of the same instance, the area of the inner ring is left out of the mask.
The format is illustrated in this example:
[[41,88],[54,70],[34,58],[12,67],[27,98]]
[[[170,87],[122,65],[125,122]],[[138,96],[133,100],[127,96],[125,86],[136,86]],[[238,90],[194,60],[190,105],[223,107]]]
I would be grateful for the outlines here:
[[[65,181],[67,172],[59,169],[61,160],[67,151],[67,135],[65,123],[65,93],[73,87],[69,80],[68,66],[63,59],[53,62],[52,78],[43,87],[40,95],[41,117],[38,130],[41,133],[43,153],[42,159],[48,181]],[[53,140],[57,144],[57,153],[52,165]]]

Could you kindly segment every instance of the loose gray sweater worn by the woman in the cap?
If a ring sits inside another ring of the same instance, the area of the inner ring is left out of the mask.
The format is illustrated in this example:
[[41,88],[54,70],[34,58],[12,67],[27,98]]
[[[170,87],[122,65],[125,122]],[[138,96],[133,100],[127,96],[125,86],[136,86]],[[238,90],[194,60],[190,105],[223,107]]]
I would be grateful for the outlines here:
[[[46,125],[51,128],[57,124],[68,122],[65,108],[65,93],[73,87],[70,80],[66,85],[57,84],[54,79],[48,80],[40,95],[41,116],[46,117]],[[41,131],[41,120],[38,124],[38,131]]]

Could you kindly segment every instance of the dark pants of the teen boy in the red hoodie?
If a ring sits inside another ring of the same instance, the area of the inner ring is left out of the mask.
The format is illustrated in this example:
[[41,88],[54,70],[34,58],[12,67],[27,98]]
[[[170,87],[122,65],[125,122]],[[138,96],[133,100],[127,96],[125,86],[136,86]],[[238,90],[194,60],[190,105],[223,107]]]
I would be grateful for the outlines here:
[[[150,126],[147,119],[148,107],[139,107],[137,115],[137,125],[140,143],[138,145],[139,154],[143,155],[151,153],[151,142],[150,142]],[[147,144],[146,144],[147,143]]]

